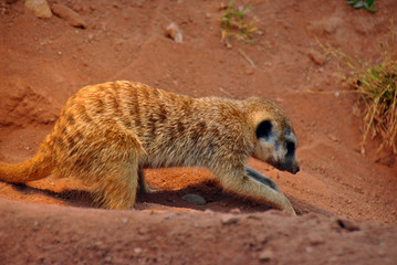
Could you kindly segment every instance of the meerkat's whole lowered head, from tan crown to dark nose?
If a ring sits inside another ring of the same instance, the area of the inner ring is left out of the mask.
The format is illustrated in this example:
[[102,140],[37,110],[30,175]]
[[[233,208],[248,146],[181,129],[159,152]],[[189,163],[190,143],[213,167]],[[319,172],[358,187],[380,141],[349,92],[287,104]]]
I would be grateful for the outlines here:
[[285,113],[263,98],[253,97],[244,102],[254,132],[253,157],[295,174],[300,170],[295,157],[297,141]]

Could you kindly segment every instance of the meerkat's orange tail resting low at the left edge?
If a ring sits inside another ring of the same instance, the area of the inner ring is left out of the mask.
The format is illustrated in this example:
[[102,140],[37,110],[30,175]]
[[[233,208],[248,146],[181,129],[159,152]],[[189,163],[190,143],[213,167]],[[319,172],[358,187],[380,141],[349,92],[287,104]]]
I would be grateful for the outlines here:
[[33,158],[21,163],[0,162],[0,179],[13,183],[43,179],[52,171],[53,163],[51,160],[49,153],[41,149]]

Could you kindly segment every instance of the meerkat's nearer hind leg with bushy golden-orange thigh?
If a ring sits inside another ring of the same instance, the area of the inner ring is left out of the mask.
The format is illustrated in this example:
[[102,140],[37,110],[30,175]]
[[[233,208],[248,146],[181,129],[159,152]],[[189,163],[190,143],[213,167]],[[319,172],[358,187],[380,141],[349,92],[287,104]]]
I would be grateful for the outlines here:
[[140,142],[133,134],[116,128],[97,138],[85,146],[80,157],[86,161],[81,167],[81,178],[92,186],[94,200],[104,208],[130,210],[138,189]]

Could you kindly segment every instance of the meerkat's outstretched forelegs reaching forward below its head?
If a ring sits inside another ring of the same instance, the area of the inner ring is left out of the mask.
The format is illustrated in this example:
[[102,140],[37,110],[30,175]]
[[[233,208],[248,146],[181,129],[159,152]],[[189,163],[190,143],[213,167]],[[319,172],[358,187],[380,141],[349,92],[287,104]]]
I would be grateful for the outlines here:
[[221,184],[238,194],[262,201],[291,215],[296,215],[289,199],[281,192],[273,180],[250,167],[239,167],[231,172],[216,174]]

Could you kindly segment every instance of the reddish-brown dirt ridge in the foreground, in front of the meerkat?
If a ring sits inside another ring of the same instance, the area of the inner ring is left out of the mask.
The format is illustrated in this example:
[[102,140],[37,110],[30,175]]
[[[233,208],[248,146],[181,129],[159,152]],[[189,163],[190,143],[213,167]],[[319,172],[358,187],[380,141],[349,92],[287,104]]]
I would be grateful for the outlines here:
[[[0,257],[6,264],[393,264],[397,261],[396,226],[313,213],[291,218],[274,210],[250,214],[210,210],[112,212],[7,200],[0,201],[0,210],[3,216]],[[10,230],[13,232],[4,232]]]

